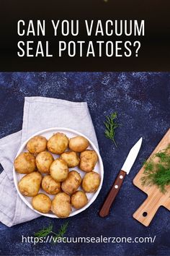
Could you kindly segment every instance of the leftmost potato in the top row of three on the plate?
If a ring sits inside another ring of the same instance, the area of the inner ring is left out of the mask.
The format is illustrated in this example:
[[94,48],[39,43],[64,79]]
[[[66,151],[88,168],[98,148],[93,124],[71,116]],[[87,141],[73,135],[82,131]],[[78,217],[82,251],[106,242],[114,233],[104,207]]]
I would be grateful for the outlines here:
[[40,153],[47,148],[47,142],[45,137],[37,135],[27,142],[27,150],[32,154]]

